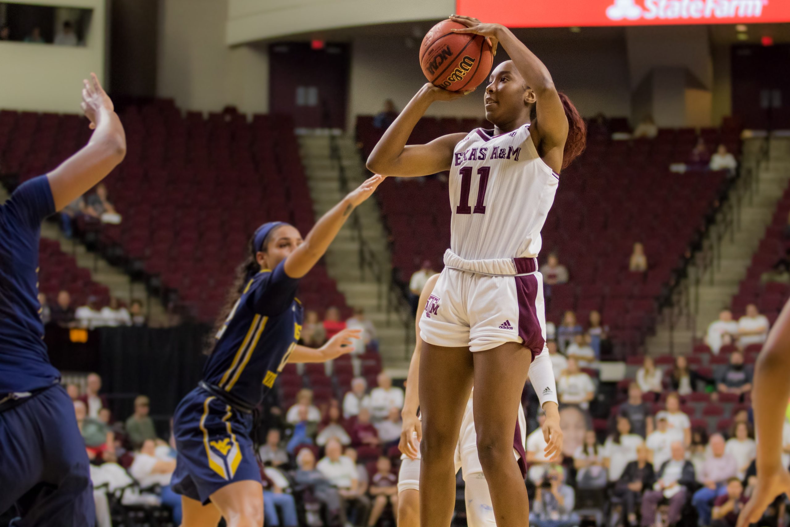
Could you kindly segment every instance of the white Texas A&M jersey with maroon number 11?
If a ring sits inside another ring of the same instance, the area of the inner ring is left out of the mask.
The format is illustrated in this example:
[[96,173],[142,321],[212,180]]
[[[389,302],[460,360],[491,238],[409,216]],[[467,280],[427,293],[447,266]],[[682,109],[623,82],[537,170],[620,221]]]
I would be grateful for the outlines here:
[[529,124],[494,137],[472,130],[450,168],[450,249],[466,260],[536,257],[558,184]]

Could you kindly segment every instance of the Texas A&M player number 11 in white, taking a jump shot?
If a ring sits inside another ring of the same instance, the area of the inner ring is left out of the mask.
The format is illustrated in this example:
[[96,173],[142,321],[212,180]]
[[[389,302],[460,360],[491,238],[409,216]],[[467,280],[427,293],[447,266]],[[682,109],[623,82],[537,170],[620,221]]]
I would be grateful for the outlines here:
[[457,32],[485,36],[510,55],[486,88],[486,118],[494,129],[407,146],[431,104],[463,96],[428,84],[389,126],[367,165],[404,177],[450,170],[450,250],[419,321],[425,342],[419,365],[420,523],[450,525],[453,457],[474,383],[477,451],[496,523],[522,527],[529,502],[511,438],[529,364],[545,346],[536,259],[540,229],[559,172],[584,149],[585,125],[543,62],[509,29],[451,19],[466,26]]

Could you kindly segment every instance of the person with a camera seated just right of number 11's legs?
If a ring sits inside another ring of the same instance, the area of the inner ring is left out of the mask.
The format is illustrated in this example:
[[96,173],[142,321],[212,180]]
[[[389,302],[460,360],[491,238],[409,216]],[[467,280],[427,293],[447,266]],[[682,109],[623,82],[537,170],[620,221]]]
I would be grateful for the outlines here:
[[530,503],[529,525],[535,527],[574,527],[581,519],[574,513],[576,494],[564,483],[565,469],[552,465],[546,478],[536,486]]

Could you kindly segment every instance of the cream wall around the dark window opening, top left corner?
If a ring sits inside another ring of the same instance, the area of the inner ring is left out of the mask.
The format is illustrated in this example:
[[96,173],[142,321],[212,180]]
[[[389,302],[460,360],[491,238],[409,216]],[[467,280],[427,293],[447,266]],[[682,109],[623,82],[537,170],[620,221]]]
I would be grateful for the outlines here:
[[[14,2],[40,4],[30,0]],[[93,9],[86,45],[63,47],[0,42],[0,108],[78,113],[82,80],[93,72],[106,84],[107,12],[104,0],[53,0],[47,5]]]

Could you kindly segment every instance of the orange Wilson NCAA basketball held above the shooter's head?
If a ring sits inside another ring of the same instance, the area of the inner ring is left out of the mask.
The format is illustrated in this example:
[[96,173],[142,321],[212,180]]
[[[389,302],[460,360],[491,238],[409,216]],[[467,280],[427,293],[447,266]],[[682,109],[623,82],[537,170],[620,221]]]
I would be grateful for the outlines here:
[[431,84],[450,92],[468,91],[486,80],[494,62],[484,36],[457,34],[465,28],[450,20],[434,25],[419,47],[419,66]]

